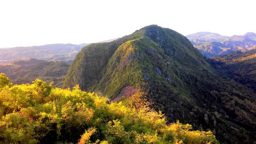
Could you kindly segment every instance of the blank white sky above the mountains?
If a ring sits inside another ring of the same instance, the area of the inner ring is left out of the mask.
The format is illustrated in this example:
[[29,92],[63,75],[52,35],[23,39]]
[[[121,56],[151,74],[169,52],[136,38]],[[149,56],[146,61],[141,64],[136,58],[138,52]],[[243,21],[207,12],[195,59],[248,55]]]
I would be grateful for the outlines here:
[[0,0],[0,48],[92,43],[157,24],[183,34],[256,33],[255,0]]

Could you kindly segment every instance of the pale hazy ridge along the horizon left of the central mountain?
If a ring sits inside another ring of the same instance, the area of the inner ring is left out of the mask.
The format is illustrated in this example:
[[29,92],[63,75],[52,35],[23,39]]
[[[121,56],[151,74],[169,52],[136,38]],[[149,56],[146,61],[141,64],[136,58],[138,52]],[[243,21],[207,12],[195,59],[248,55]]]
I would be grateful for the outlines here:
[[0,64],[14,60],[37,58],[42,60],[73,60],[76,54],[88,44],[47,44],[43,46],[0,49]]

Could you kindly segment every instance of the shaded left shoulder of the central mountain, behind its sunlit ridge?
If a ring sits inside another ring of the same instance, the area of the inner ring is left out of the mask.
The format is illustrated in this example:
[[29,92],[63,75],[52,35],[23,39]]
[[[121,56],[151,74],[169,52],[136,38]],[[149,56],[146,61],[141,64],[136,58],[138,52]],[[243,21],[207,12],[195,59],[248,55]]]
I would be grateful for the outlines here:
[[79,84],[82,90],[89,90],[99,83],[106,72],[108,60],[124,42],[144,37],[145,31],[138,31],[113,42],[95,43],[84,47],[77,55],[65,77],[64,86]]

